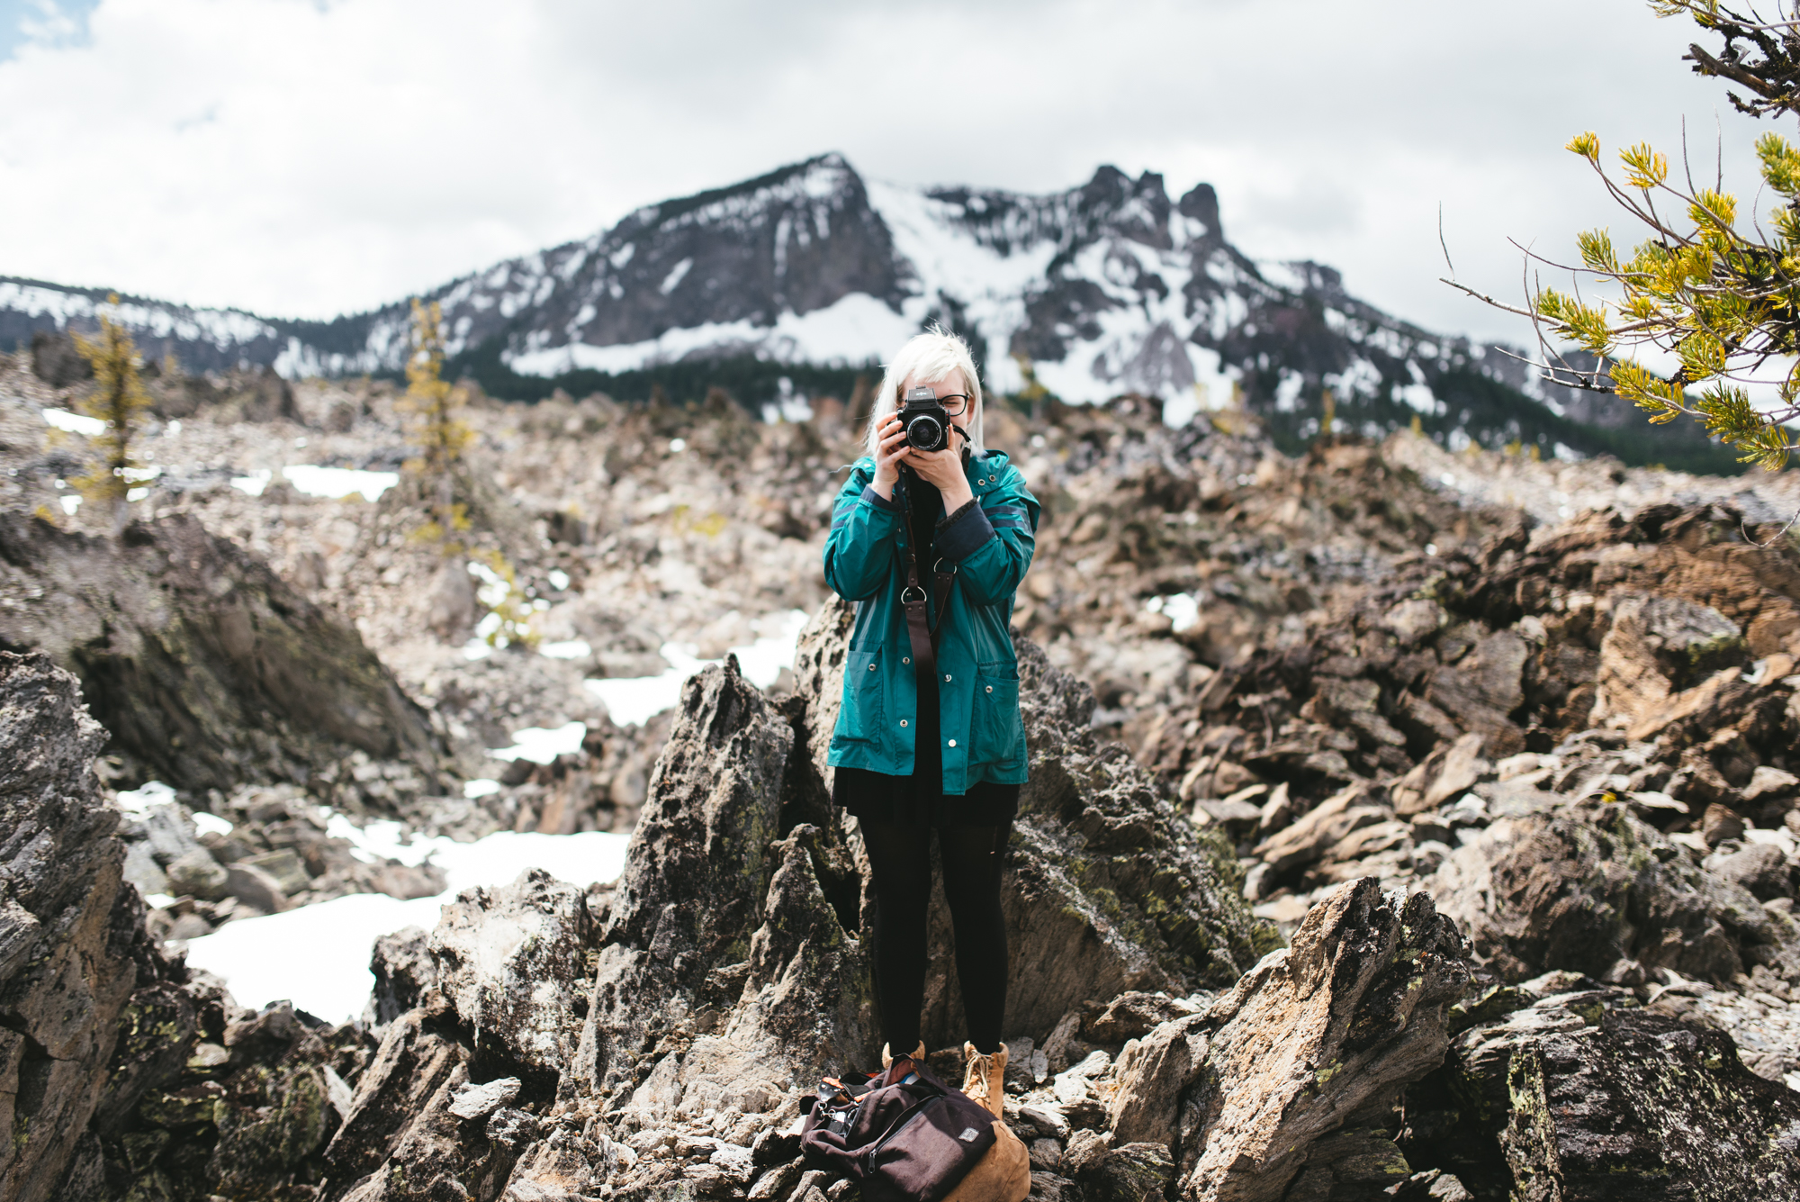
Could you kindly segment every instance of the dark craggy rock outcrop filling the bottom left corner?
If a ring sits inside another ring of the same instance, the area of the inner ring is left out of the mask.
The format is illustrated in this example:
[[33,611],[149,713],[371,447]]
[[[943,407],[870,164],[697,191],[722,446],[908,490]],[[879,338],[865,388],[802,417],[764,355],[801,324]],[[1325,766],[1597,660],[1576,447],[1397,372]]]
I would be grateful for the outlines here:
[[362,1036],[239,1011],[164,957],[103,743],[68,673],[0,651],[0,1198],[310,1198]]

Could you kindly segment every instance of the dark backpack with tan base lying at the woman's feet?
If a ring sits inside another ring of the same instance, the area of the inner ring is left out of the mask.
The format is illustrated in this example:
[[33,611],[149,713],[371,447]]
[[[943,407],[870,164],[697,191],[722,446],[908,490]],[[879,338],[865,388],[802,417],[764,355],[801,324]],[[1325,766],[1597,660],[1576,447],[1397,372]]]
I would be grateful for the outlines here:
[[1019,1137],[904,1056],[880,1076],[819,1081],[799,1143],[860,1180],[864,1202],[1022,1202],[1031,1191]]

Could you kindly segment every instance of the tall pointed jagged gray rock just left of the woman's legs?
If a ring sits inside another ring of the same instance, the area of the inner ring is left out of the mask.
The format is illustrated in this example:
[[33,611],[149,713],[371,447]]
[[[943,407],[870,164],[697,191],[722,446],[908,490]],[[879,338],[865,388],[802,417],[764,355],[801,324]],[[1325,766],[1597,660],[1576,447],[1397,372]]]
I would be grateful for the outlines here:
[[[608,1112],[668,1117],[733,1081],[772,1098],[868,1056],[857,909],[826,896],[853,898],[855,869],[821,828],[781,839],[792,747],[734,659],[684,687],[614,891],[576,1065]],[[652,1087],[652,1069],[673,1080]]]

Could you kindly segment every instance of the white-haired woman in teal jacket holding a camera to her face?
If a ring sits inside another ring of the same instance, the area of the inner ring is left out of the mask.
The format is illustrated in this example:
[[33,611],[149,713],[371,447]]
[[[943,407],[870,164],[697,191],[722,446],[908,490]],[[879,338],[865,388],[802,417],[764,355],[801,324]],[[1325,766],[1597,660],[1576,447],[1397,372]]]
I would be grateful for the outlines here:
[[[943,450],[907,444],[896,410],[920,387],[954,426]],[[1006,455],[983,446],[974,360],[941,329],[918,335],[887,365],[868,450],[832,509],[824,579],[857,603],[830,763],[833,797],[860,822],[875,873],[882,1062],[914,1045],[914,1058],[925,1054],[936,831],[968,1018],[963,1092],[1001,1117],[1001,866],[1026,779],[1010,628],[1039,506]]]

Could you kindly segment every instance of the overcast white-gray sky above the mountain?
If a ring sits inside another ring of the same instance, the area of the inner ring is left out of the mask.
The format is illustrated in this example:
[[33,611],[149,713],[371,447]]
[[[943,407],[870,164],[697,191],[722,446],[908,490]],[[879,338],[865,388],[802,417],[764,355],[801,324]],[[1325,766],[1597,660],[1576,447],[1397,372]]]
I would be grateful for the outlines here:
[[[1427,327],[1521,340],[1508,238],[1625,227],[1562,151],[1753,193],[1762,128],[1643,0],[0,0],[0,275],[331,317],[842,151],[866,176],[1219,189]],[[1757,205],[1768,209],[1768,198]],[[1633,234],[1627,241],[1636,241]]]

